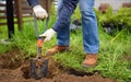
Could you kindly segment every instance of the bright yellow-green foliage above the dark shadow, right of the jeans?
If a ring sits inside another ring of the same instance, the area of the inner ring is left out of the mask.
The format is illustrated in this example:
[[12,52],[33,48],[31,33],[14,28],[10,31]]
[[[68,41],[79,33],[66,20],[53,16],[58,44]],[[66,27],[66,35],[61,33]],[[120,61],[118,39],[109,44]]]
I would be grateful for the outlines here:
[[104,25],[104,23],[112,23],[116,30],[120,27],[120,25],[126,25],[126,27],[131,31],[131,8],[120,8],[116,13],[112,12],[111,8],[108,8],[105,14],[96,10],[96,14],[100,25]]

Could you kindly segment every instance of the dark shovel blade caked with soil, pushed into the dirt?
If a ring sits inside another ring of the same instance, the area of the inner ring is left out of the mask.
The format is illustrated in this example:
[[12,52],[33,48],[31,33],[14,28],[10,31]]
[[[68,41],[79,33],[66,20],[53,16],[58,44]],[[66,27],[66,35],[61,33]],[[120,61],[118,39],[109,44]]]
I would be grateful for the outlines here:
[[48,73],[48,59],[31,59],[31,78],[39,80]]

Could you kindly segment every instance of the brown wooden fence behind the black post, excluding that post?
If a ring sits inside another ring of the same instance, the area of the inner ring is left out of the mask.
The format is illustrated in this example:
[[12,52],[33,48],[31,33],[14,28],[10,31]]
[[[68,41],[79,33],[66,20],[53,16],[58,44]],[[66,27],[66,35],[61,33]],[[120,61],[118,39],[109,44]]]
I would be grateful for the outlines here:
[[[39,3],[49,12],[50,5],[52,0],[39,0]],[[12,0],[13,3],[13,17],[16,19],[14,21],[15,24],[17,24],[19,30],[22,30],[22,25],[24,22],[29,22],[32,20],[24,21],[23,17],[31,17],[33,16],[32,8],[28,5],[26,0]],[[7,3],[5,1],[0,2],[0,26],[7,25]],[[4,20],[2,22],[2,20]]]

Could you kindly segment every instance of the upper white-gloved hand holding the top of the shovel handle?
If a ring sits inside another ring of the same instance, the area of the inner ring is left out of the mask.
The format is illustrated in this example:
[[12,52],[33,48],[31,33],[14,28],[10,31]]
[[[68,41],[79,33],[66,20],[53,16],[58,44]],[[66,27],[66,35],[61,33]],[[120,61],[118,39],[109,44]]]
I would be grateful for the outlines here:
[[45,17],[48,17],[48,13],[46,12],[46,10],[41,7],[41,5],[35,5],[33,8],[33,11],[36,15],[36,17],[38,19],[45,19]]

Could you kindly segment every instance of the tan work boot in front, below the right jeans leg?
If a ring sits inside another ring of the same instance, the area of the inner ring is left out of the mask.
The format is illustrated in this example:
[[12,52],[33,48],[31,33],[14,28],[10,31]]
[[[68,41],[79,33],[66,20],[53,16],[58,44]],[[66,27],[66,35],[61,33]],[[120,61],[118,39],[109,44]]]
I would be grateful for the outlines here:
[[97,62],[97,55],[96,54],[87,54],[82,67],[84,68],[90,68],[90,67],[95,67],[96,62]]

